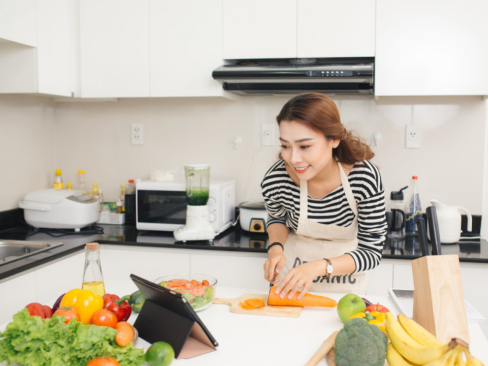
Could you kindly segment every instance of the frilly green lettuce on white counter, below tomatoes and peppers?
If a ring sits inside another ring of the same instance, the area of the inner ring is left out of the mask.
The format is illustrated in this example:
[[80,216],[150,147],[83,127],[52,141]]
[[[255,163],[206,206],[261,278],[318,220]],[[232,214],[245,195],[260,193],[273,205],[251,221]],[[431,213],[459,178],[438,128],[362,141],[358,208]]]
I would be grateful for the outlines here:
[[54,315],[43,321],[22,309],[13,316],[5,332],[0,332],[0,362],[25,366],[86,366],[96,357],[112,356],[120,366],[145,363],[144,350],[131,343],[115,343],[117,330],[77,321],[68,324]]

